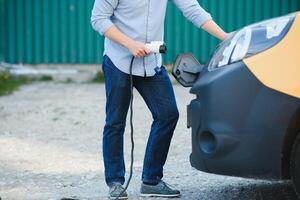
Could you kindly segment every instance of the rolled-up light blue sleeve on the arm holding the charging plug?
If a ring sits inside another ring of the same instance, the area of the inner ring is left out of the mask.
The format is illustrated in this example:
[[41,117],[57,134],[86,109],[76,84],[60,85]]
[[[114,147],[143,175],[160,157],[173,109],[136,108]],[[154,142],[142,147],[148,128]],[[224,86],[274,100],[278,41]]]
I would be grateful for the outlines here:
[[104,35],[104,33],[114,25],[111,21],[111,16],[117,5],[118,0],[95,0],[91,24],[101,35]]

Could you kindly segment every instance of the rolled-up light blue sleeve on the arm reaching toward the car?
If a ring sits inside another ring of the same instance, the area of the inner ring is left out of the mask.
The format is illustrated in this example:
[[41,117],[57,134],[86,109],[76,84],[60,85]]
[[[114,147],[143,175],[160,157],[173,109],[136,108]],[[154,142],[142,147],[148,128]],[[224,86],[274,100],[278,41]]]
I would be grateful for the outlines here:
[[201,27],[205,22],[212,19],[211,15],[200,6],[197,0],[173,0],[173,2],[183,15],[197,27]]

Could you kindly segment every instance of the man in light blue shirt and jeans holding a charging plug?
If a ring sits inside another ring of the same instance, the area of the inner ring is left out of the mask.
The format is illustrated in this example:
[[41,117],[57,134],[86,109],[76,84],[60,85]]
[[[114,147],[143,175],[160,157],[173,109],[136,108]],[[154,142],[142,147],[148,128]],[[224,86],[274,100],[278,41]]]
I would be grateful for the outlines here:
[[[159,54],[145,43],[163,41],[168,0],[95,0],[91,23],[105,36],[103,72],[106,87],[106,124],[103,132],[105,180],[110,197],[123,190],[125,164],[123,134],[130,103],[129,68],[132,56],[133,84],[153,116],[142,173],[141,196],[176,197],[178,190],[164,181],[171,138],[179,117],[172,84]],[[224,40],[227,34],[196,0],[173,0],[184,16],[199,28]],[[124,193],[120,199],[127,199]]]

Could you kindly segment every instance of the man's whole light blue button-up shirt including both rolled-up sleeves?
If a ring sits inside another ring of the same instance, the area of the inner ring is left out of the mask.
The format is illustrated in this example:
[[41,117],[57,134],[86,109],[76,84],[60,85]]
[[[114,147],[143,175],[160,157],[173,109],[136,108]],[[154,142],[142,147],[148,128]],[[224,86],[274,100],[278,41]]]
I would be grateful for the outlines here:
[[[211,19],[211,15],[197,0],[172,1],[197,27]],[[95,0],[91,23],[101,35],[115,25],[122,33],[136,41],[163,41],[167,3],[168,0]],[[105,38],[104,54],[119,70],[129,74],[132,54],[127,48]],[[151,53],[144,58],[136,58],[132,72],[136,76],[154,76],[155,68],[161,65],[161,55]]]

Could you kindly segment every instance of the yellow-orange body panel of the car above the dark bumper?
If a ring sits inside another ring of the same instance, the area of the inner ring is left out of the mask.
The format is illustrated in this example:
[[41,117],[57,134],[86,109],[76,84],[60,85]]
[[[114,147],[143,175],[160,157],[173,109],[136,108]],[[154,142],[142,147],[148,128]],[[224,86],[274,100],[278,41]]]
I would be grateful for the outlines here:
[[264,85],[300,98],[300,14],[277,45],[244,62]]

